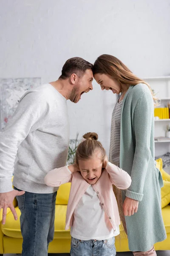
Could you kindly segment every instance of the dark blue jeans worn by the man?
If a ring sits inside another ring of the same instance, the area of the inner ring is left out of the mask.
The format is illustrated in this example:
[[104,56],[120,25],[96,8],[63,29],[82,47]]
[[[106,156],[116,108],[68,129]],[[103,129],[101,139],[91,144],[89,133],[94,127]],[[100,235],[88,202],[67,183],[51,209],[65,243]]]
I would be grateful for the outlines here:
[[21,211],[22,256],[48,256],[48,244],[54,237],[56,194],[25,192],[16,196]]

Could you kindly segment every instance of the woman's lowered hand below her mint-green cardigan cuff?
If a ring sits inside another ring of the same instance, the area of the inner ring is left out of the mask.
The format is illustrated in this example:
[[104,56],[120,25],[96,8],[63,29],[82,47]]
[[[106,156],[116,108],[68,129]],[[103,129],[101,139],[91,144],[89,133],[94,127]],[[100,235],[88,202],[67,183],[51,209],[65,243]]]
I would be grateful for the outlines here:
[[126,197],[123,204],[123,211],[125,216],[131,216],[134,214],[134,212],[137,212],[138,204],[139,201]]

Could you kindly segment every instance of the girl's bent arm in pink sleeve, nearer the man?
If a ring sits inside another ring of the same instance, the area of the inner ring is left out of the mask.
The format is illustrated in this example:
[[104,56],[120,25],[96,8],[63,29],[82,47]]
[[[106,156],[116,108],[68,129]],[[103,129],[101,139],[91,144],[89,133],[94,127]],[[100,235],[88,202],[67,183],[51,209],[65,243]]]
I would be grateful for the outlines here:
[[77,170],[78,168],[75,164],[51,170],[45,176],[45,184],[47,186],[58,187],[61,184],[71,182],[73,172],[76,172]]

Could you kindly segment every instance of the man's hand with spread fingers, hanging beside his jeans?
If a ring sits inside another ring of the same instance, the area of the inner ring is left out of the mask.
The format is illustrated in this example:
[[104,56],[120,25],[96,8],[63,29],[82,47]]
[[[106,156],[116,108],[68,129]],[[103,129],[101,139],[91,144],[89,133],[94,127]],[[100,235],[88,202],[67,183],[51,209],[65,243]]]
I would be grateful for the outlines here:
[[11,209],[12,214],[14,215],[14,219],[17,220],[17,212],[14,208],[13,201],[16,195],[23,195],[25,191],[12,190],[6,193],[0,193],[0,210],[3,209],[3,219],[2,224],[4,225],[6,222],[6,212],[7,208]]

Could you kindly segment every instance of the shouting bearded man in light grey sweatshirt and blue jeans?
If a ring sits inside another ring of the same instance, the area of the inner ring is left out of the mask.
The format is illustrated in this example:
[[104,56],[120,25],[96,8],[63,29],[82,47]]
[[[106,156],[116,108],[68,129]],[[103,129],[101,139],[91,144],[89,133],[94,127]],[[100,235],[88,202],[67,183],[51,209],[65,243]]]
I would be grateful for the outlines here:
[[[48,171],[65,166],[69,145],[66,100],[77,103],[92,90],[93,65],[82,58],[65,62],[57,81],[25,93],[13,118],[0,134],[0,209],[3,221],[17,197],[21,211],[22,256],[47,256],[54,236],[57,187],[45,185]],[[12,188],[12,173],[14,161]]]

